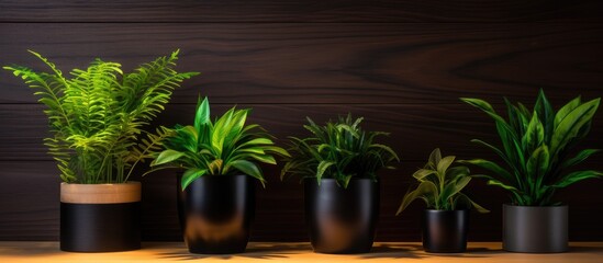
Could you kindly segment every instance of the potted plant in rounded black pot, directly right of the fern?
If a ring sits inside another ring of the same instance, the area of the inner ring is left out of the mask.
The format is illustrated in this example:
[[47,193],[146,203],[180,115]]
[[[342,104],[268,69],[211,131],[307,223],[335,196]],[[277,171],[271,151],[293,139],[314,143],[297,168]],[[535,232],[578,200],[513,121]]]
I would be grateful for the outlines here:
[[152,171],[180,168],[178,202],[185,241],[191,253],[244,252],[255,214],[255,181],[265,183],[257,162],[276,164],[289,156],[257,124],[250,110],[232,107],[212,122],[210,103],[199,100],[194,124],[177,125]]

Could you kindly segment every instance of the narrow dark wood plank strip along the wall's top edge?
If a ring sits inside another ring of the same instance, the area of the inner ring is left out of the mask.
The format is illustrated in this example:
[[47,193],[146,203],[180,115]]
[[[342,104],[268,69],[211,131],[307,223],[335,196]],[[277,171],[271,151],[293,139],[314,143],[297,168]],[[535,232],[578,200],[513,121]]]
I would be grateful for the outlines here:
[[601,21],[601,1],[3,0],[0,22],[558,22]]

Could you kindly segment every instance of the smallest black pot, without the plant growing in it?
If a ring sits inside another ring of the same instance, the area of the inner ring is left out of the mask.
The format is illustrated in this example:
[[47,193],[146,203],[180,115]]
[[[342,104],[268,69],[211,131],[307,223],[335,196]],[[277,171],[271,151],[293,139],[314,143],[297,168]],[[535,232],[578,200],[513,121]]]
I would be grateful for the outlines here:
[[467,249],[469,210],[423,213],[423,249],[433,253],[459,253]]

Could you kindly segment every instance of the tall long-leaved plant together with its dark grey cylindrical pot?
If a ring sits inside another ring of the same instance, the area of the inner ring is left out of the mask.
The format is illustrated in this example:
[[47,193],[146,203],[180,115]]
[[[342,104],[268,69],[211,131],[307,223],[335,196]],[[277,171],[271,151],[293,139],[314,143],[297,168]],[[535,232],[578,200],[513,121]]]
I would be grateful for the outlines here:
[[515,252],[562,252],[568,248],[568,206],[552,198],[555,192],[585,179],[601,178],[599,171],[572,171],[596,149],[574,152],[587,137],[601,99],[582,102],[578,96],[555,112],[540,90],[534,110],[505,99],[509,121],[485,101],[461,99],[494,119],[502,148],[472,140],[494,151],[503,161],[465,161],[491,174],[479,175],[488,184],[511,193],[503,205],[503,248]]

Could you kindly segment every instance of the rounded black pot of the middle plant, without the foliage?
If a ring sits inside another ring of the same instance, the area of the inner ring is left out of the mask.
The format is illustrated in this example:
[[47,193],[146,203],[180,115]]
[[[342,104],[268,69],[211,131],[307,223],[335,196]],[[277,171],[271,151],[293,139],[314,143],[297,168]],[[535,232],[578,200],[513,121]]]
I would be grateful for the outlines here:
[[379,182],[353,179],[347,188],[334,179],[304,180],[305,221],[320,253],[366,253],[379,217]]

